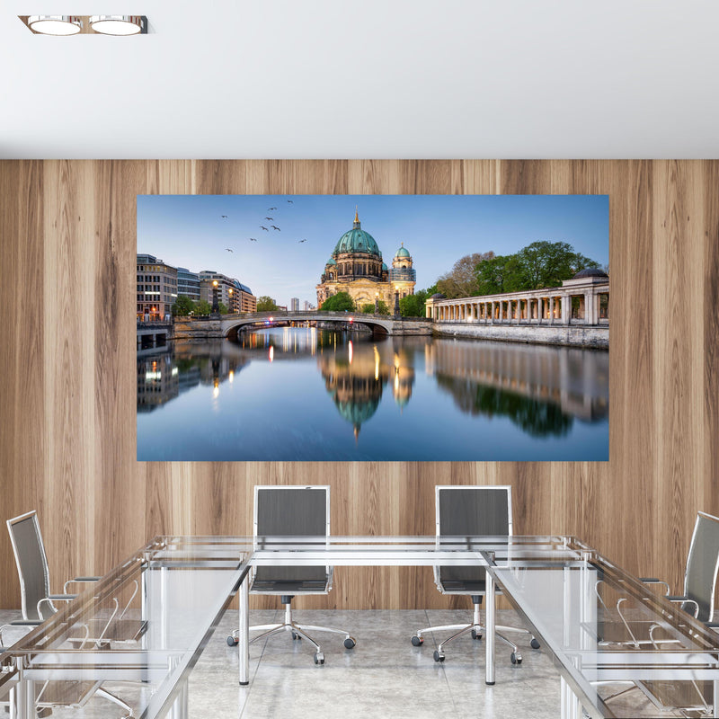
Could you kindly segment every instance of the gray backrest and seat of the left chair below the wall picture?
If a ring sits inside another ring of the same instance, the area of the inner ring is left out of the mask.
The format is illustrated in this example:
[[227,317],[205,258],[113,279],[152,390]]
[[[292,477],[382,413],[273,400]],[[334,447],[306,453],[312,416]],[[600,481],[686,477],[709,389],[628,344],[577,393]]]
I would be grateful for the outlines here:
[[[262,545],[262,537],[328,537],[329,534],[329,486],[255,486],[254,538],[257,546]],[[315,582],[326,582],[328,577],[326,566],[261,566],[255,568],[253,583],[306,582],[309,588]]]

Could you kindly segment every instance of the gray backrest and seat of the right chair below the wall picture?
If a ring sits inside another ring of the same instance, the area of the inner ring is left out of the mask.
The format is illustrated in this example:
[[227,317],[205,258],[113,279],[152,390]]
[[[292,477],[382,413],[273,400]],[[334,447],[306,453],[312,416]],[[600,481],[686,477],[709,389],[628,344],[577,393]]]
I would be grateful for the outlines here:
[[[435,493],[438,537],[511,535],[510,486],[439,485]],[[447,591],[484,593],[482,567],[440,566],[435,579]]]

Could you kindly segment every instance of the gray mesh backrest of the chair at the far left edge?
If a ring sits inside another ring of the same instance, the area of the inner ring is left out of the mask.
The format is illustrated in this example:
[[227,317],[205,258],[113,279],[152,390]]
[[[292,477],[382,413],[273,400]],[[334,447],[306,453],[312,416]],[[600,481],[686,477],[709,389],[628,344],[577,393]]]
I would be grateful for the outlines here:
[[[22,618],[42,619],[38,612],[38,602],[49,597],[50,579],[37,512],[33,510],[8,519],[7,529],[10,532],[20,579]],[[47,607],[47,604],[45,606]]]

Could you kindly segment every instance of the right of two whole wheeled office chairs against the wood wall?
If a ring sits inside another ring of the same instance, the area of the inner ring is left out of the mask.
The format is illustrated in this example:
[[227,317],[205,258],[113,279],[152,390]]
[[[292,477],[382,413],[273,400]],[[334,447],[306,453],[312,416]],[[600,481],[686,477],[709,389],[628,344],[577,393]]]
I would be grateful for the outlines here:
[[[437,537],[490,537],[511,536],[511,487],[509,486],[444,486],[435,487]],[[485,594],[485,572],[483,567],[435,566],[434,581],[442,594],[468,594],[474,604],[474,616],[470,624],[428,626],[412,637],[414,646],[424,644],[428,632],[450,632],[456,634],[441,642],[434,652],[434,661],[444,661],[444,648],[449,642],[470,632],[473,639],[481,639],[484,626],[480,620],[480,605]],[[539,642],[527,629],[514,626],[496,626],[504,632],[521,632],[530,635],[533,649]],[[519,647],[500,631],[496,636],[511,647],[511,663],[521,664]]]

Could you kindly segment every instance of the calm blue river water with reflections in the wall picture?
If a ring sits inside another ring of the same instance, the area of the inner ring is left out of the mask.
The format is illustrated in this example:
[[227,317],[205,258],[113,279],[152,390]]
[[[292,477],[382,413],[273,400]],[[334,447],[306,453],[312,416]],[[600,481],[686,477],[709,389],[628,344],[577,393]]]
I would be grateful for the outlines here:
[[586,460],[608,351],[271,328],[138,353],[138,460]]

